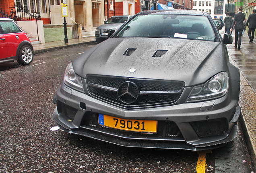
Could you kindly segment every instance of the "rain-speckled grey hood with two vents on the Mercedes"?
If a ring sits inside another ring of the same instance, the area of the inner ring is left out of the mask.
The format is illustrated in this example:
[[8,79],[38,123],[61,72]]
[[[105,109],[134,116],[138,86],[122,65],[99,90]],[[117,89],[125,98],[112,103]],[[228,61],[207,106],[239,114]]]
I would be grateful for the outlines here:
[[[136,49],[124,55],[128,48]],[[153,57],[157,50],[166,51]],[[87,74],[184,81],[201,84],[227,71],[228,54],[220,42],[176,38],[109,38],[72,61],[79,76]],[[136,68],[135,72],[129,72]]]

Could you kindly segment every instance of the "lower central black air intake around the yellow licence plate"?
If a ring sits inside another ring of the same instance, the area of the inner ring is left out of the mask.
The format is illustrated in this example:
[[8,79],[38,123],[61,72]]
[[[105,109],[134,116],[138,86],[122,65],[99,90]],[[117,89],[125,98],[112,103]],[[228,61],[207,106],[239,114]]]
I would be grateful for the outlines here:
[[184,140],[180,129],[173,121],[158,121],[157,122],[157,133],[141,133],[141,132],[133,132],[133,131],[124,131],[112,128],[104,128],[98,123],[98,114],[93,112],[86,112],[81,127],[86,128],[95,128],[97,131],[102,133],[107,133],[109,135],[118,135],[121,137],[127,138],[150,138],[150,139],[166,139],[166,140]]

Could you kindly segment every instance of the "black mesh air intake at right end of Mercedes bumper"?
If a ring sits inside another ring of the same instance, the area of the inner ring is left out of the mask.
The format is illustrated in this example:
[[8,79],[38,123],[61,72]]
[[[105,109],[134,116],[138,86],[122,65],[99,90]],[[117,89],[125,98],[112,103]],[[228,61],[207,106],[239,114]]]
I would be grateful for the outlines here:
[[227,119],[212,119],[191,122],[190,125],[199,137],[223,135],[228,130]]

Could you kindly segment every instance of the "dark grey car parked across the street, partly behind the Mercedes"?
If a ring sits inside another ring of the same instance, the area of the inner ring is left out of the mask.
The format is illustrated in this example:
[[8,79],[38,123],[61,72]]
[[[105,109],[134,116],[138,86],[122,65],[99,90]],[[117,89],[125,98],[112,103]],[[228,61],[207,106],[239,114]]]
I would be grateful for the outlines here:
[[118,30],[132,16],[112,16],[103,25],[96,28],[95,39],[98,43],[107,40],[107,35],[110,30]]

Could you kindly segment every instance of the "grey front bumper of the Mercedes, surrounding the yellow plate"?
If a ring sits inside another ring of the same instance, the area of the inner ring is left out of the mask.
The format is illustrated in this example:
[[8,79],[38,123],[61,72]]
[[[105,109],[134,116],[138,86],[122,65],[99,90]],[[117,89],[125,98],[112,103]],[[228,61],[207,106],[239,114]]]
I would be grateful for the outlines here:
[[[89,93],[80,93],[62,83],[57,90],[53,119],[68,133],[127,147],[213,149],[233,141],[237,133],[235,122],[241,110],[234,93],[239,92],[239,82],[233,80],[231,84],[233,90],[230,87],[224,97],[213,101],[128,109],[93,98]],[[177,103],[190,91],[191,88],[185,88]],[[157,135],[104,128],[98,124],[98,114],[121,119],[157,120]]]

